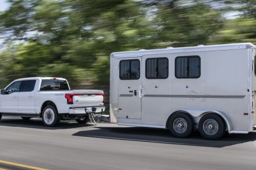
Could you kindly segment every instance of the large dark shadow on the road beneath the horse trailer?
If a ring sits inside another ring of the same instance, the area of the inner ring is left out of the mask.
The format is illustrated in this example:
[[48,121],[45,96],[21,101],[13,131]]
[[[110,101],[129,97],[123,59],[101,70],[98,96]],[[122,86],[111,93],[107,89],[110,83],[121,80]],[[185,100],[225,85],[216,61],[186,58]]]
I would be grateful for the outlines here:
[[73,135],[213,148],[222,148],[256,140],[256,132],[251,134],[225,134],[220,140],[204,140],[197,131],[188,138],[175,138],[171,136],[169,130],[146,127],[97,127],[95,130],[80,131]]

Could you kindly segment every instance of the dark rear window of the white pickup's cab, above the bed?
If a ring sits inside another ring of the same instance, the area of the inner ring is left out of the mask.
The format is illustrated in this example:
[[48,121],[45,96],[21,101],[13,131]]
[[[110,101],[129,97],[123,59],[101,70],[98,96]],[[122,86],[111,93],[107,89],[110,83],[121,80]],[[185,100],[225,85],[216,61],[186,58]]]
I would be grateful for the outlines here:
[[42,80],[40,90],[69,90],[66,80]]

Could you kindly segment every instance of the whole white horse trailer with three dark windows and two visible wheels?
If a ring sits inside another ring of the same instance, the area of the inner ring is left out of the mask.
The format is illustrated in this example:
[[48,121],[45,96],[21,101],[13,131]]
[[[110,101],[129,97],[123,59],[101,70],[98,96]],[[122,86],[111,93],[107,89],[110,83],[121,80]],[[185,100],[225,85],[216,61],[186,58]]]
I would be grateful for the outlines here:
[[254,58],[251,43],[112,53],[110,121],[176,137],[252,132]]

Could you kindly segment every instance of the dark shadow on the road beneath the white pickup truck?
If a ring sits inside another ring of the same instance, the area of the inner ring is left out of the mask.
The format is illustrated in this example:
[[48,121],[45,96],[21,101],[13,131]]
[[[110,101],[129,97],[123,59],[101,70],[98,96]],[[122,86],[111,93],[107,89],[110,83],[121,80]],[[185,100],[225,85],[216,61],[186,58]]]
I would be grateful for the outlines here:
[[18,117],[12,118],[2,118],[0,121],[0,126],[10,126],[10,127],[27,127],[35,129],[72,129],[77,127],[87,127],[91,126],[90,124],[79,124],[75,120],[72,121],[60,121],[56,127],[46,127],[43,125],[41,118],[32,118],[30,120],[23,120]]

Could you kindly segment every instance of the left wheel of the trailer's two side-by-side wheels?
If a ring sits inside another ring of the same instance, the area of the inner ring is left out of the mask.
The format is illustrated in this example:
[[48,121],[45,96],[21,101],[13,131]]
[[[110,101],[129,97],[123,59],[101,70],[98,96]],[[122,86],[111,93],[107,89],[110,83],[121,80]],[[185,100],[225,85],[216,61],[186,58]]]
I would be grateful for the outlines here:
[[193,129],[193,121],[187,114],[174,114],[169,120],[169,130],[174,137],[188,137],[192,133]]

